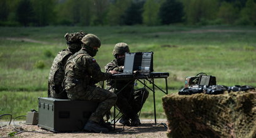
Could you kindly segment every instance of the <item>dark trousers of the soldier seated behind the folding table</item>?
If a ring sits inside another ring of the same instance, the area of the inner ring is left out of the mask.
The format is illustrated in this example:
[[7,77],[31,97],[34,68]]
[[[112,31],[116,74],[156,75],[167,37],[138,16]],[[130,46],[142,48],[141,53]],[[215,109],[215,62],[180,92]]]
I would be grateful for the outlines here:
[[[114,88],[110,90],[114,92]],[[120,109],[120,112],[132,119],[135,115],[140,112],[143,104],[148,98],[148,90],[145,88],[140,88],[138,90],[134,90],[133,88],[125,88],[121,92],[116,90],[118,100],[116,100],[116,106]]]

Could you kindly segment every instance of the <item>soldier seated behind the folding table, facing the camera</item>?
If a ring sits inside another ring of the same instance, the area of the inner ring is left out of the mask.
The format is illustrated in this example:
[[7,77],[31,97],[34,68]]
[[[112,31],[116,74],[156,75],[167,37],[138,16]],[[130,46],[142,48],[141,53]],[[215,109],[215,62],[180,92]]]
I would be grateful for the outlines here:
[[[126,52],[130,52],[128,45],[126,43],[117,43],[113,50],[115,59],[105,66],[106,72],[111,70],[123,72]],[[119,92],[127,83],[129,85]],[[142,105],[148,97],[148,91],[145,88],[134,90],[134,83],[135,80],[119,80],[116,82],[116,93],[118,96],[116,105],[123,114],[120,119],[120,123],[123,125],[137,126],[141,124],[138,118],[138,112],[140,112]],[[109,90],[113,85],[114,80],[107,80],[106,89]],[[114,92],[114,88],[112,87],[110,91]]]

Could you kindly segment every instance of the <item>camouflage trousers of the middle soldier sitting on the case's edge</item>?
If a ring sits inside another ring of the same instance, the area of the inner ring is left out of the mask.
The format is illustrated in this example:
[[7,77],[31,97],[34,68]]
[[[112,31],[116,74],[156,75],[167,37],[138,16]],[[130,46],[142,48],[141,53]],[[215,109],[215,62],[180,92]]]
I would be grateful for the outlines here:
[[96,85],[87,85],[87,88],[82,87],[82,85],[75,85],[75,87],[67,90],[67,97],[70,100],[91,100],[98,102],[97,109],[89,118],[89,120],[94,122],[99,122],[103,119],[104,114],[113,107],[117,99],[116,94],[104,88],[96,87]]

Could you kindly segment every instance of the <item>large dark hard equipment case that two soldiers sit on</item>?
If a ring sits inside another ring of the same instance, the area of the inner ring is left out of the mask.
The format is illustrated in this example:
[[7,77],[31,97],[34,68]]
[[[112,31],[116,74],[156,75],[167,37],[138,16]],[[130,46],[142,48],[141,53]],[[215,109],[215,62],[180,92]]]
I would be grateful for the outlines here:
[[82,130],[97,104],[87,100],[39,97],[38,127],[55,132]]

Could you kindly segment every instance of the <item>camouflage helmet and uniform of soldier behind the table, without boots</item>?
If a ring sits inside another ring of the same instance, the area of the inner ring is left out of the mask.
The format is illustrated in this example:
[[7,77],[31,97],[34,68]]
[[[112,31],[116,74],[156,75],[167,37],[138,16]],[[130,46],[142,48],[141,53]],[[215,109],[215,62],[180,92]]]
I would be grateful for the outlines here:
[[[117,46],[126,45],[125,43],[118,43]],[[128,45],[127,45],[128,47]],[[115,46],[116,48],[116,46]],[[114,51],[116,51],[114,49]],[[116,57],[115,52],[113,51],[113,55]],[[130,52],[129,49],[125,49],[125,52]],[[117,53],[124,53],[124,51],[117,51]],[[117,58],[117,57],[116,57]],[[117,72],[123,72],[124,61],[118,61],[118,59],[114,59],[110,63],[105,66],[106,72],[110,70],[115,70]],[[121,92],[121,88],[123,88],[127,83],[129,83]],[[116,82],[116,93],[118,96],[118,100],[116,101],[117,107],[120,109],[121,113],[128,117],[129,119],[133,119],[136,117],[138,112],[142,109],[142,105],[145,103],[148,97],[148,91],[145,88],[141,88],[139,90],[134,90],[135,80],[118,80]],[[106,89],[108,90],[111,86],[114,85],[114,80],[107,80]],[[114,88],[110,89],[111,92],[114,92]]]

